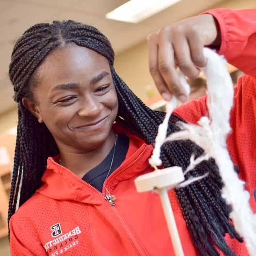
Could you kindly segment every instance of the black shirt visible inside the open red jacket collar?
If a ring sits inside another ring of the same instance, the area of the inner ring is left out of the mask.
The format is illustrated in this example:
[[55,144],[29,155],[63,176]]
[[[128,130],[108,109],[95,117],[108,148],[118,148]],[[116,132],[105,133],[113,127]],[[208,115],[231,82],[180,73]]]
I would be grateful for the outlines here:
[[[116,140],[115,154],[114,154],[114,159],[113,159],[109,176],[125,160],[128,148],[129,148],[129,138],[127,137],[126,134],[119,133]],[[111,161],[113,158],[113,153],[114,153],[114,146],[112,147],[108,156],[100,164],[98,164],[96,167],[94,167],[89,172],[87,172],[82,177],[82,180],[88,182],[90,185],[95,187],[98,191],[102,192],[103,183],[108,175]]]

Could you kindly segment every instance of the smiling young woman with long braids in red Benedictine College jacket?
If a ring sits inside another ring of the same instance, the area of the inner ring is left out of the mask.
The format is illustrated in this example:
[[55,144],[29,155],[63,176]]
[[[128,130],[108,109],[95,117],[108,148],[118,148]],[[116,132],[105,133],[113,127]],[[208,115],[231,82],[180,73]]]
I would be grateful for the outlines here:
[[[150,70],[165,98],[183,94],[173,56],[193,78],[196,66],[205,65],[205,45],[219,47],[249,74],[236,88],[228,148],[254,211],[255,24],[255,10],[217,9],[148,38]],[[174,255],[158,195],[134,186],[152,171],[148,158],[164,113],[128,89],[113,61],[102,33],[71,20],[36,24],[17,40],[9,70],[18,103],[8,218],[13,256]],[[177,130],[177,120],[196,122],[204,114],[205,98],[181,106],[168,132]],[[185,169],[192,152],[202,150],[189,141],[165,144],[163,166]],[[228,218],[213,160],[192,175],[205,172],[210,175],[169,194],[185,255],[248,255]]]

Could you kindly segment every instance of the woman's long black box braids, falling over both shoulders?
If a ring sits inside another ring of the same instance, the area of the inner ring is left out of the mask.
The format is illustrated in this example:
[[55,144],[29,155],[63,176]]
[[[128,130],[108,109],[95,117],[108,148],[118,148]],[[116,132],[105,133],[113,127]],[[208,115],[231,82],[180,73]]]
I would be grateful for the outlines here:
[[[37,122],[23,106],[21,99],[27,97],[36,100],[32,90],[36,86],[36,69],[51,51],[67,44],[90,48],[109,61],[119,101],[116,121],[147,144],[154,145],[158,126],[165,115],[164,112],[149,109],[116,74],[111,44],[93,26],[67,20],[35,24],[29,28],[17,40],[9,66],[14,99],[18,103],[18,124],[8,223],[16,211],[18,193],[18,206],[21,206],[39,188],[48,157],[59,154],[48,128],[44,123]],[[168,134],[178,130],[175,124],[179,120],[176,115],[172,115]],[[191,141],[164,144],[161,150],[163,166],[177,165],[185,170],[192,152],[197,156],[203,153]],[[176,196],[198,253],[202,256],[218,256],[215,249],[217,246],[224,255],[234,256],[224,240],[224,235],[228,233],[240,242],[242,239],[229,222],[230,207],[221,196],[223,183],[216,164],[213,160],[204,161],[187,174],[186,178],[190,175],[201,176],[206,172],[209,172],[206,178],[185,188],[176,189]]]

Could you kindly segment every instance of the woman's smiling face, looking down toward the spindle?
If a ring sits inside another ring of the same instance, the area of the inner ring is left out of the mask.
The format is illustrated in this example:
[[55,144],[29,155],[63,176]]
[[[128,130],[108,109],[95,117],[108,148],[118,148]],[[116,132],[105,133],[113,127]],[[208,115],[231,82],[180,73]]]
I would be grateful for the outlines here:
[[50,53],[23,104],[44,122],[59,149],[89,152],[110,136],[118,100],[107,59],[74,44]]

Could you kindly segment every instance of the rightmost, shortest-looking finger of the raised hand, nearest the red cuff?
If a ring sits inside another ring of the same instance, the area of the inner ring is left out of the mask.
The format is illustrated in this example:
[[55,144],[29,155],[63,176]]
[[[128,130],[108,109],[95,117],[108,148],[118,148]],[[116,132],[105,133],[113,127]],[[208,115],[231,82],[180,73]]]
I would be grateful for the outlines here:
[[190,46],[192,62],[198,67],[205,67],[207,61],[203,54],[204,44],[199,34],[194,32],[188,32],[187,38]]

